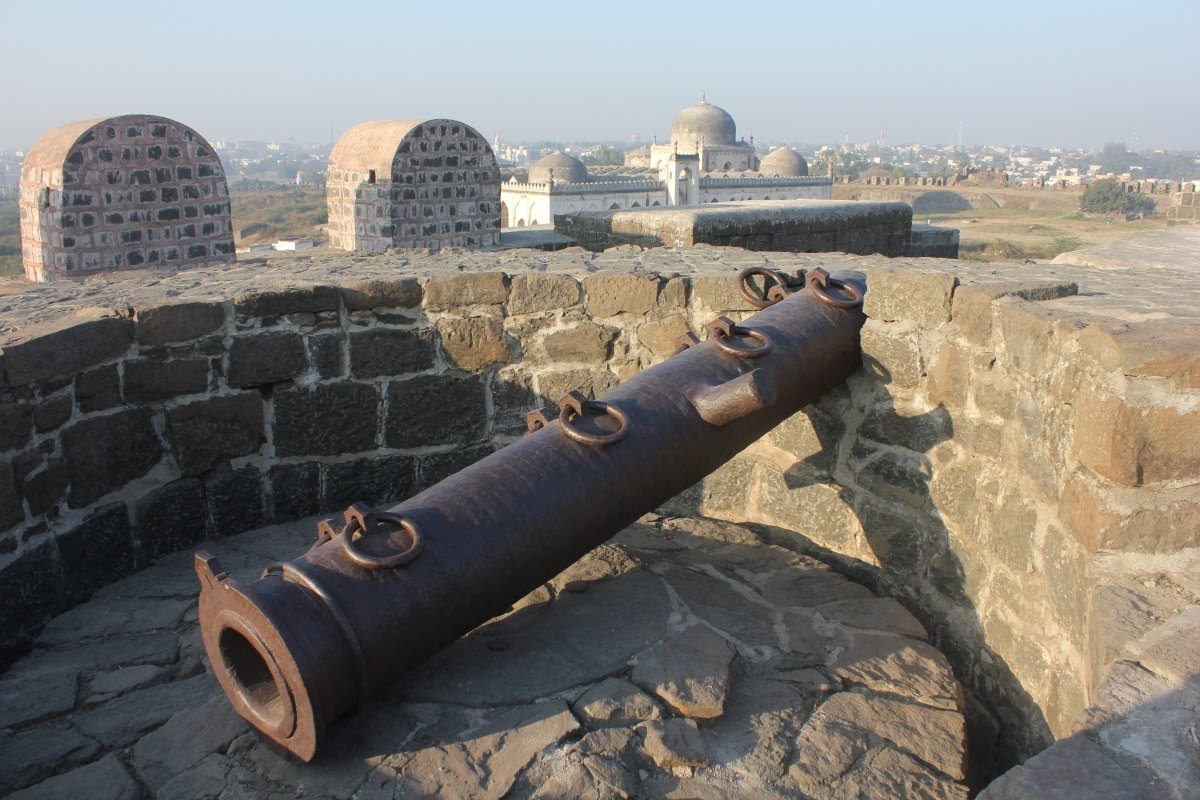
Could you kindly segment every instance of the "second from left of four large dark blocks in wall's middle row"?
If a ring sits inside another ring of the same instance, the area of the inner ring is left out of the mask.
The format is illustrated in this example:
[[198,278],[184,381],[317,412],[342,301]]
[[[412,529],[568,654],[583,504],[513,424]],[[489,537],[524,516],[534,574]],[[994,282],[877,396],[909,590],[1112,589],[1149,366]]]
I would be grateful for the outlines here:
[[167,411],[167,440],[184,475],[258,452],[265,438],[258,392],[210,397]]

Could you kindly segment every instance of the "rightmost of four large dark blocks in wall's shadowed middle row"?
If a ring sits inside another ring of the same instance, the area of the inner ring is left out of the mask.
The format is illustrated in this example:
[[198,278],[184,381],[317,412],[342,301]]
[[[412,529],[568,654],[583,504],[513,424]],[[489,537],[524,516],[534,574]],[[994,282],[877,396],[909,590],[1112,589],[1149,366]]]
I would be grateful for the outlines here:
[[384,441],[389,447],[474,444],[486,427],[479,375],[421,375],[388,386]]

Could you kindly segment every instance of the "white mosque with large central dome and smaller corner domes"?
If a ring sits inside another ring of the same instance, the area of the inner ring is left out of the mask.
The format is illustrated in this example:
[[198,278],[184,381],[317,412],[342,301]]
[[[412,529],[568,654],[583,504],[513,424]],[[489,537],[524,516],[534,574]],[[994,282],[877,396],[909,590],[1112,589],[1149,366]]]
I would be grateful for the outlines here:
[[803,156],[778,148],[760,161],[728,112],[703,100],[676,114],[670,144],[632,150],[623,167],[589,170],[564,152],[539,158],[524,181],[500,185],[500,225],[550,224],[575,211],[832,197],[833,181],[810,176]]

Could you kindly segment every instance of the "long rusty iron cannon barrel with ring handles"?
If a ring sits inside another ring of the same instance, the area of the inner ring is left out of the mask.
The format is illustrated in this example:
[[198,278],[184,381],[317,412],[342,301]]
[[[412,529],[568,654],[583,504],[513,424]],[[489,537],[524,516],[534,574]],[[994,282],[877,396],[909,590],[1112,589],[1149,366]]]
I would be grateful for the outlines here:
[[842,383],[860,363],[865,282],[806,278],[792,291],[743,271],[762,311],[719,318],[599,399],[533,411],[520,441],[386,511],[355,504],[257,581],[197,553],[204,646],[238,714],[310,760],[330,722]]

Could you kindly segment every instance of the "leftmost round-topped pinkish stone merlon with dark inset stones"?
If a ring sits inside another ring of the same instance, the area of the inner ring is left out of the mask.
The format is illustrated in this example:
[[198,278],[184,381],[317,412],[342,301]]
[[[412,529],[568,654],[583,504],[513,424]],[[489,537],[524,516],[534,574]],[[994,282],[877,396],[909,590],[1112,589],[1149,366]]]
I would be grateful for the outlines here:
[[204,137],[136,114],[62,125],[20,169],[30,281],[234,260],[229,192]]

